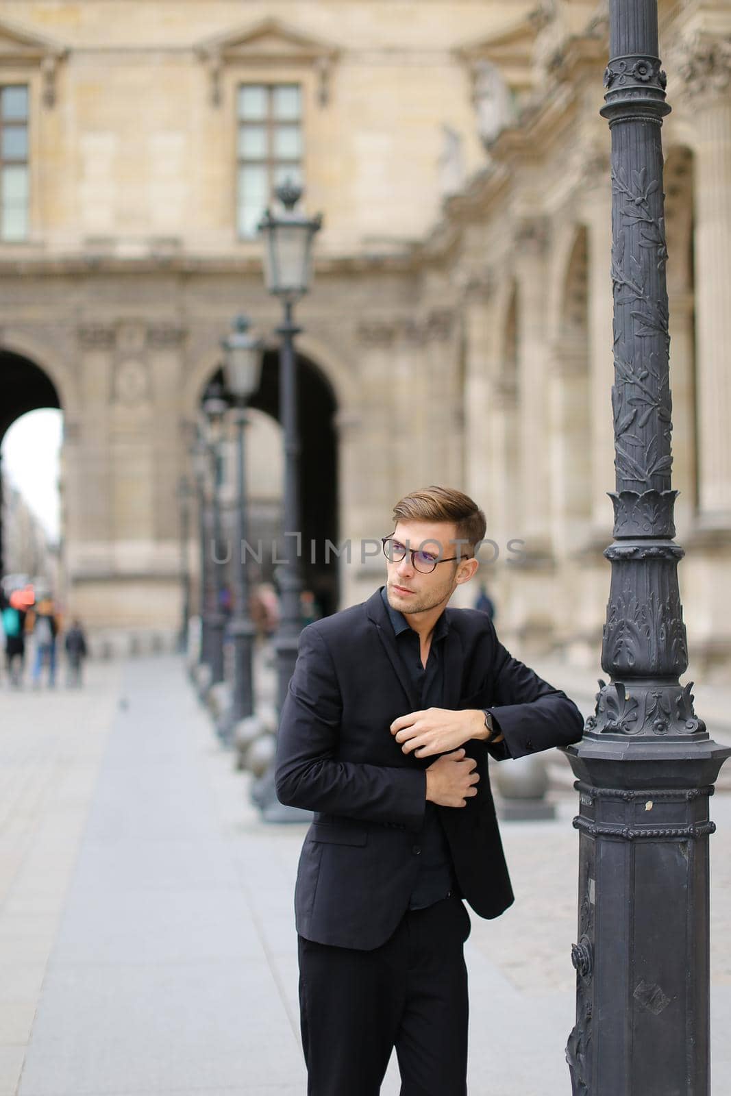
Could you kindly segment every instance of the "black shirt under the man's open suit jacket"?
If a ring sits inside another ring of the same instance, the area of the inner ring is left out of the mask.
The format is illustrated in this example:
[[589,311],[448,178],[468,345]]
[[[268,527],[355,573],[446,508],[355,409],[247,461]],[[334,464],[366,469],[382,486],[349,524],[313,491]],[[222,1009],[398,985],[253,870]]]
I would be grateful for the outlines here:
[[[391,608],[385,586],[380,593],[393,626],[399,657],[413,692],[420,698],[421,707],[441,708],[444,703],[443,646],[449,630],[446,616],[443,613],[436,621],[429,659],[423,666],[419,635],[410,627],[402,613]],[[426,803],[424,824],[414,837],[413,847],[414,854],[419,856],[419,875],[409,899],[409,909],[423,910],[446,898],[455,889],[452,854],[435,803]],[[416,853],[416,849],[420,852]]]

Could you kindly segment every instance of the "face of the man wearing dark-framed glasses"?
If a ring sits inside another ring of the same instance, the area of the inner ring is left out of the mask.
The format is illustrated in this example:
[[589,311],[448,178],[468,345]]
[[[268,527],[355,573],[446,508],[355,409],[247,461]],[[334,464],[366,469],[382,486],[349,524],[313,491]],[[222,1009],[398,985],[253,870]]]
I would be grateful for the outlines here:
[[447,561],[453,556],[466,556],[468,551],[467,545],[455,545],[456,536],[452,522],[399,522],[393,540],[409,548],[421,548],[444,562],[426,574],[413,566],[409,552],[398,563],[387,561],[386,589],[392,608],[409,614],[426,613],[446,605],[458,584],[460,568],[465,570],[464,563]]

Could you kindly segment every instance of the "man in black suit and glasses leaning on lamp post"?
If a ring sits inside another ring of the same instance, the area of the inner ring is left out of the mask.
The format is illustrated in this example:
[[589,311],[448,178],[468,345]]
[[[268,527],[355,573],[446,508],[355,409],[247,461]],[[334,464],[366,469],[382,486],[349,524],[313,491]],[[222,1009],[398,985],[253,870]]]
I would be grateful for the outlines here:
[[461,900],[513,901],[488,753],[582,730],[484,613],[446,607],[478,568],[476,503],[432,487],[393,522],[386,587],[302,631],[279,726],[277,795],[316,812],[295,894],[309,1096],[377,1096],[393,1047],[401,1096],[467,1092]]

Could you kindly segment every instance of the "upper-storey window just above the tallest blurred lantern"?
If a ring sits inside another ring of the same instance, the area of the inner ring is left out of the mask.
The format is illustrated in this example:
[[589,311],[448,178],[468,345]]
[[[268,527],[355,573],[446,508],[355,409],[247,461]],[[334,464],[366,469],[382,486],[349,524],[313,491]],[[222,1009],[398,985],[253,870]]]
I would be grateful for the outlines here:
[[301,92],[296,83],[244,83],[237,105],[238,229],[252,237],[274,187],[285,179],[301,184]]

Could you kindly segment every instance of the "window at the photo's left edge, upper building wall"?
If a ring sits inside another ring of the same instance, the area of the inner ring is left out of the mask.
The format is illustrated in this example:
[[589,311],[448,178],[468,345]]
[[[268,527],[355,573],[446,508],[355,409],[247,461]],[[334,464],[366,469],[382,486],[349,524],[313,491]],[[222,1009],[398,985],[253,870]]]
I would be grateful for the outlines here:
[[27,238],[28,94],[25,84],[0,88],[0,240]]

